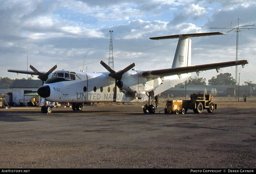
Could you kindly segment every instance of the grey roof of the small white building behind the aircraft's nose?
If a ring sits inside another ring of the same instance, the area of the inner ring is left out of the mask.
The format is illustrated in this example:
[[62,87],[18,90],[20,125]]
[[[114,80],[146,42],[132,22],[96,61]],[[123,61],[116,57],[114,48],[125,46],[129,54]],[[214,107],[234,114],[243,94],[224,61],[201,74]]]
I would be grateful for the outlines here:
[[15,80],[9,88],[39,88],[41,80]]

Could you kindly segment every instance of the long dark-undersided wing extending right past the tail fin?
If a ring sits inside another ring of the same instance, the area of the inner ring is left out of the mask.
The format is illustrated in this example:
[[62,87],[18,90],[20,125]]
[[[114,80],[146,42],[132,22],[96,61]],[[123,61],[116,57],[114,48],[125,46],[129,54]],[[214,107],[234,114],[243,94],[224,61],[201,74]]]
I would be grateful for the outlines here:
[[192,73],[192,72],[196,72],[199,75],[199,71],[216,69],[217,72],[219,72],[220,68],[229,67],[229,66],[237,66],[237,65],[244,66],[247,63],[248,63],[248,60],[239,60],[239,61],[211,63],[211,64],[203,64],[203,65],[195,65],[195,66],[158,69],[158,70],[152,70],[152,71],[143,71],[143,72],[141,72],[141,74],[142,74],[142,76],[148,77],[148,78],[164,77],[164,76],[170,76],[170,75],[180,75],[180,74]]

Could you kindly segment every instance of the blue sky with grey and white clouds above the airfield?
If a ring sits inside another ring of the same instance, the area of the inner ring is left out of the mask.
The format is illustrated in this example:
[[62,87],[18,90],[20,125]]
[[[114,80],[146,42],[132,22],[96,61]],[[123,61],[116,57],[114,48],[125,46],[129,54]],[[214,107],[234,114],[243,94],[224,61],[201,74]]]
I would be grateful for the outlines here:
[[[28,66],[39,71],[57,64],[57,70],[105,72],[100,61],[108,64],[109,30],[113,30],[115,71],[133,62],[137,70],[170,68],[177,39],[149,38],[183,33],[227,33],[191,38],[192,65],[233,61],[235,30],[209,28],[235,28],[238,18],[239,26],[256,28],[255,16],[255,0],[5,0],[0,2],[0,76],[26,78],[7,69],[26,70],[27,55]],[[238,59],[249,60],[245,68],[238,68],[240,84],[256,83],[255,36],[256,29],[239,32]],[[221,69],[226,72],[235,78],[235,67]],[[208,82],[216,75],[210,70],[199,77]]]

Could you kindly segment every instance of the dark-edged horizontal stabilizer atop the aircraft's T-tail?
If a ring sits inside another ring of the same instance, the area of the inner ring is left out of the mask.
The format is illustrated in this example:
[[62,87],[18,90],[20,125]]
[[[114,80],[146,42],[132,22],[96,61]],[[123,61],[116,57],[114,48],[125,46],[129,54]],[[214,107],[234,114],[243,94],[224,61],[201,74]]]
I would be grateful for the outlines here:
[[184,38],[191,38],[191,37],[200,37],[200,36],[212,36],[212,35],[221,35],[225,33],[221,32],[209,32],[209,33],[191,33],[191,34],[176,34],[170,36],[159,36],[159,37],[152,37],[152,40],[160,40],[160,39],[175,39],[183,36]]

